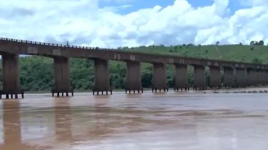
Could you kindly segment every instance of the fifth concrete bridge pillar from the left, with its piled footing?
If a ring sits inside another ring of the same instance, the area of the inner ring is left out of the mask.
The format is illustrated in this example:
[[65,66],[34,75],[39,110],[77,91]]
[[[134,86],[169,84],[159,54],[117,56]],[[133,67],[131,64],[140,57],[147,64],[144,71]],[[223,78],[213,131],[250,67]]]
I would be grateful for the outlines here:
[[153,87],[152,91],[157,92],[167,90],[167,77],[166,77],[166,65],[163,63],[154,63],[154,75],[153,75]]

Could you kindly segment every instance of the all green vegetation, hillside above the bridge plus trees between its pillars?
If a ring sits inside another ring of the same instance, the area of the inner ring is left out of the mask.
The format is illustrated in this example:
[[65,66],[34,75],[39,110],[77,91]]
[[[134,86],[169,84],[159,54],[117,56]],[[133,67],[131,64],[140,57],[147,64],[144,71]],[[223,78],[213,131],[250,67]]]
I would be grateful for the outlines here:
[[[138,48],[119,48],[129,51],[158,54],[180,55],[208,59],[222,59],[249,63],[268,64],[268,47],[260,45],[226,45],[226,46],[149,46]],[[94,82],[94,63],[89,59],[72,58],[70,60],[71,83],[76,90],[90,90]],[[1,65],[0,65],[1,69]],[[142,63],[142,83],[144,88],[152,85],[152,65]],[[174,85],[172,65],[167,66],[168,86]],[[189,67],[189,83],[193,84],[193,68]],[[110,61],[110,82],[114,89],[125,87],[126,67],[124,62]],[[29,56],[20,58],[20,85],[25,91],[48,91],[53,87],[53,59]],[[209,73],[206,73],[209,79]],[[1,78],[1,74],[0,74]],[[209,82],[209,80],[207,80]]]

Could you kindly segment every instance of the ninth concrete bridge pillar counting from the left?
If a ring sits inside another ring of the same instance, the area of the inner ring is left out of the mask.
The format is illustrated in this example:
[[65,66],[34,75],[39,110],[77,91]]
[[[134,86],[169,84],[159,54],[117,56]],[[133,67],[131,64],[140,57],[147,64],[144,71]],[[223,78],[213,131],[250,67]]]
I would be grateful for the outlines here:
[[224,67],[224,80],[223,85],[225,87],[233,87],[234,84],[234,69],[231,67]]

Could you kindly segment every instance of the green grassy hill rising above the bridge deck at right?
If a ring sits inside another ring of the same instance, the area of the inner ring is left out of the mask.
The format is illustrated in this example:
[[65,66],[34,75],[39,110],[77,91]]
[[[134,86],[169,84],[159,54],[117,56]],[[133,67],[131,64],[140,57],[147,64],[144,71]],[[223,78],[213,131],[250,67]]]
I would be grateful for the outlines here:
[[[207,59],[219,59],[238,62],[255,62],[256,59],[263,64],[268,64],[268,46],[249,45],[223,45],[223,46],[149,46],[138,48],[122,48],[138,52],[179,55],[185,57],[198,57]],[[260,62],[259,62],[260,63]]]

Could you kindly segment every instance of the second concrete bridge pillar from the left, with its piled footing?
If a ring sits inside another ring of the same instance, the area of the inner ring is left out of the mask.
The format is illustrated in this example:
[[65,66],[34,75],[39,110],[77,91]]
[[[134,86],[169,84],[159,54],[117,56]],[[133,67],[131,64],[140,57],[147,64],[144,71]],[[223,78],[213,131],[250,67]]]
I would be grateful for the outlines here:
[[73,89],[71,88],[71,74],[69,66],[69,58],[66,57],[54,57],[54,89],[52,90],[52,96],[54,93],[57,97],[69,96],[69,93],[73,96]]

